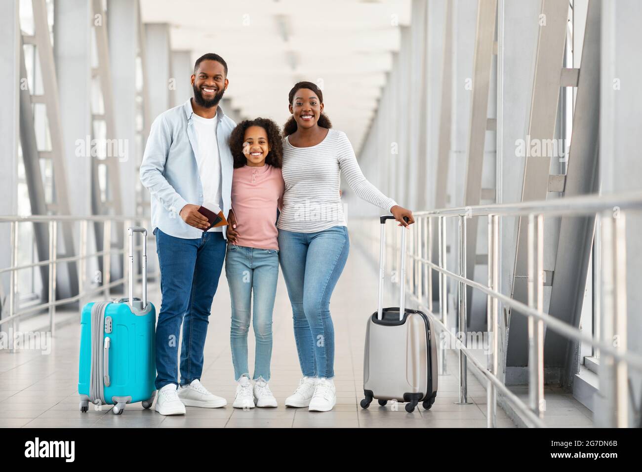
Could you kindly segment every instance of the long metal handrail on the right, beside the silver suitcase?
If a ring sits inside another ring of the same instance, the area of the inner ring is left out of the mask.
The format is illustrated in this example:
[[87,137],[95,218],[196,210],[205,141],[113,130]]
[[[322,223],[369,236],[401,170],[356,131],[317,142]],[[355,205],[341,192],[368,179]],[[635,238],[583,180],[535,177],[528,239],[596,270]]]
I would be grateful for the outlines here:
[[[471,360],[474,367],[480,370],[489,381],[487,389],[487,419],[488,426],[496,425],[496,390],[515,406],[532,426],[545,426],[544,418],[544,362],[543,342],[544,324],[560,335],[586,342],[593,347],[598,347],[600,353],[605,354],[605,361],[613,371],[614,388],[607,391],[607,397],[614,403],[613,423],[615,426],[627,426],[627,368],[630,366],[642,371],[642,356],[626,349],[625,340],[619,345],[609,344],[592,335],[587,335],[575,326],[563,322],[543,311],[543,222],[546,216],[590,216],[598,218],[596,228],[602,231],[602,243],[600,249],[603,259],[601,267],[605,272],[603,284],[600,287],[603,292],[602,309],[605,322],[612,322],[613,332],[625,333],[626,320],[626,293],[625,293],[625,214],[624,210],[642,209],[642,192],[621,193],[617,195],[586,195],[581,197],[559,198],[556,200],[544,200],[534,202],[519,202],[516,204],[493,204],[477,205],[469,207],[456,207],[446,209],[435,209],[431,211],[419,211],[413,213],[416,224],[410,254],[406,257],[415,263],[415,270],[407,272],[406,277],[415,277],[412,283],[412,290],[406,290],[418,306],[428,311],[428,315],[437,322],[438,329],[448,333],[450,337],[455,334],[449,331],[446,326],[446,279],[450,277],[458,283],[458,324],[465,339],[466,329],[466,286],[470,286],[487,295],[487,320],[489,334],[492,333],[492,349],[489,355],[489,365],[483,368],[481,363],[474,358],[471,351],[465,345],[458,345],[460,363],[460,402],[467,403],[467,378],[466,361]],[[476,216],[489,217],[489,283],[484,285],[466,277],[465,263],[465,240],[466,220]],[[514,300],[499,292],[499,263],[498,263],[498,240],[499,240],[499,218],[506,216],[528,217],[528,304]],[[456,217],[459,222],[458,231],[458,252],[456,265],[459,274],[446,269],[446,219]],[[438,264],[433,263],[433,219],[438,220]],[[597,231],[597,230],[596,230]],[[425,234],[425,238],[424,235]],[[370,235],[370,239],[376,238]],[[394,243],[393,247],[397,249]],[[464,250],[462,250],[462,247]],[[426,256],[424,257],[424,251]],[[424,280],[424,268],[426,277]],[[433,313],[433,284],[432,271],[437,271],[439,276],[439,313]],[[407,286],[408,284],[406,284]],[[618,290],[616,290],[618,288]],[[424,294],[426,302],[424,302]],[[498,377],[498,303],[501,302],[512,308],[521,315],[528,317],[528,341],[529,341],[529,394],[530,405],[517,398]],[[602,302],[600,302],[602,304]],[[462,309],[463,308],[463,309]],[[492,328],[492,329],[491,329]],[[460,333],[460,335],[462,334]],[[455,337],[456,338],[456,337]],[[444,363],[444,356],[442,365]],[[605,390],[609,390],[608,388]]]

